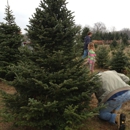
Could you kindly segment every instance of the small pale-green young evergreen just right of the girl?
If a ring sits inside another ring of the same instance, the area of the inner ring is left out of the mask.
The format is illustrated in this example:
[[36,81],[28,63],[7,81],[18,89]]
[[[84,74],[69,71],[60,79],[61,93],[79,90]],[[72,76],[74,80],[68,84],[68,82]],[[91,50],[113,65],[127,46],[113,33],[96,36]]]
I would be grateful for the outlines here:
[[96,50],[96,64],[99,68],[108,68],[109,49],[107,46],[99,46]]

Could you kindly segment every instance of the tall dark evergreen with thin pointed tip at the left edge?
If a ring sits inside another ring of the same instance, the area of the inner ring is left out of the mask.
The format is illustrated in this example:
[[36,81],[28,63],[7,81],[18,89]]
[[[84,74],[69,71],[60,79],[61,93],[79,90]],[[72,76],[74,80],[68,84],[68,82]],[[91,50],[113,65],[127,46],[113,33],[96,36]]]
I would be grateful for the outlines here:
[[5,9],[6,23],[0,23],[0,77],[7,76],[7,67],[19,59],[18,47],[21,45],[20,28],[15,23],[10,6]]

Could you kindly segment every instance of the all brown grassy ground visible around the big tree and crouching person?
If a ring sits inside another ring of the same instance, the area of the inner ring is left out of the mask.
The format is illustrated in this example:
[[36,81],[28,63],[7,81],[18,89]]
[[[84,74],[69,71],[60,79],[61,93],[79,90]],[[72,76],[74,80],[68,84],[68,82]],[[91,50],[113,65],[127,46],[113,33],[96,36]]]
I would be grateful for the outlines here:
[[[102,71],[100,69],[96,70]],[[15,92],[13,87],[6,86],[5,84],[0,82],[0,89],[6,91],[7,93],[13,94]],[[2,98],[0,97],[0,101]],[[91,105],[93,107],[97,106],[97,99],[95,95],[92,95]],[[0,102],[0,109],[2,108],[1,102]],[[125,103],[122,106],[122,109],[120,112],[123,112],[127,115],[126,118],[126,130],[130,130],[130,102]],[[0,118],[1,119],[1,118]],[[0,122],[0,130],[22,130],[20,128],[13,128],[11,123],[2,123]],[[25,130],[25,129],[23,129]],[[80,130],[118,130],[117,125],[109,124],[108,122],[100,120],[97,116],[88,119],[88,121],[84,122],[84,127]]]

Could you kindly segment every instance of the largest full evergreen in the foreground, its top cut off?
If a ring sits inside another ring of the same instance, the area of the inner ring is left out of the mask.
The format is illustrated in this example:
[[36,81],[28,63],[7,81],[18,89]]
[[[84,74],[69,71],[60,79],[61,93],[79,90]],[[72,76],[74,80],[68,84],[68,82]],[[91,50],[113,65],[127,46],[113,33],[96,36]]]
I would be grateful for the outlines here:
[[5,114],[16,125],[76,130],[93,115],[89,102],[99,86],[82,67],[78,29],[65,0],[41,1],[27,31],[34,50],[20,48],[21,61],[10,67],[15,77],[8,84],[16,94],[4,95]]

